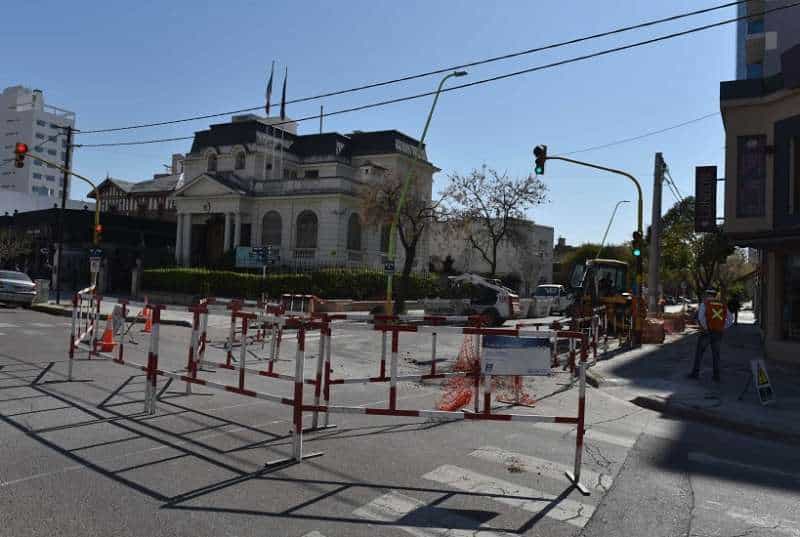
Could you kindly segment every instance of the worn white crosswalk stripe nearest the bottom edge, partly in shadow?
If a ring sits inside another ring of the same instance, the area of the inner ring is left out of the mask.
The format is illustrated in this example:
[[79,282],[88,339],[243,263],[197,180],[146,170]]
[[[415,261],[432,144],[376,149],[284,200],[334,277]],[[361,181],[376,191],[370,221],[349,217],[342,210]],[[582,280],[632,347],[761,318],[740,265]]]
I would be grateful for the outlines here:
[[[388,494],[379,496],[366,504],[359,507],[353,514],[368,520],[377,520],[380,522],[412,522],[415,518],[415,512],[426,507],[425,502],[421,502],[416,498],[400,494],[396,491],[391,491]],[[400,529],[406,533],[410,533],[415,537],[511,537],[508,532],[495,532],[488,530],[480,530],[474,528],[475,520],[468,519],[456,514],[445,514],[442,516],[436,513],[436,523],[439,526],[431,527],[432,515],[427,517],[424,514],[418,514],[416,518],[419,519],[418,525],[399,524],[392,526],[392,528]],[[474,528],[474,529],[469,529]],[[377,534],[380,535],[381,531]]]

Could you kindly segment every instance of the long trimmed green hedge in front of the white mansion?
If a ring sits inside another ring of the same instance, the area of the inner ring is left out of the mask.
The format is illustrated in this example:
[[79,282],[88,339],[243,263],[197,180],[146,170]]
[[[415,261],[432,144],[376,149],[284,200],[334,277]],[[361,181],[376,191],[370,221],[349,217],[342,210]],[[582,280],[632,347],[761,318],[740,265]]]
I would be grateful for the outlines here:
[[[394,289],[398,288],[395,277]],[[321,269],[306,273],[260,274],[199,268],[162,268],[144,271],[144,289],[200,296],[257,298],[261,293],[276,297],[283,293],[313,294],[320,298],[384,298],[386,276],[381,271]],[[439,294],[434,276],[411,275],[410,300]]]

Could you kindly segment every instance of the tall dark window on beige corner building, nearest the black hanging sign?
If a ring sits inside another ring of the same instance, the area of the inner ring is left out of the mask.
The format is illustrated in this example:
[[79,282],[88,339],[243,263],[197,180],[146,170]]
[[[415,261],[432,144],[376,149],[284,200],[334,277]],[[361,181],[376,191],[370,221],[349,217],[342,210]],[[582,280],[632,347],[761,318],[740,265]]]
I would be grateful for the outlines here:
[[736,216],[764,216],[767,183],[767,137],[739,136],[736,167]]

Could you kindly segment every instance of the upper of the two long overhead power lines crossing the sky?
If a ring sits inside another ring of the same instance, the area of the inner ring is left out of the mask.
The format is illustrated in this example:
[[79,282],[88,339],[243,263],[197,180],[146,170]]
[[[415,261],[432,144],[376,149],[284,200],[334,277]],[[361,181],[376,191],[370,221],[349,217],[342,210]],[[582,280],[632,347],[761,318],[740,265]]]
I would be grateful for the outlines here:
[[[725,4],[719,4],[719,5],[711,6],[711,7],[708,7],[708,8],[698,9],[698,10],[694,10],[694,11],[687,11],[687,12],[684,12],[684,13],[678,13],[676,15],[670,15],[668,17],[663,17],[663,18],[660,18],[660,19],[649,20],[649,21],[633,24],[633,25],[630,25],[630,26],[623,26],[623,27],[620,27],[620,28],[615,28],[613,30],[607,30],[607,31],[604,31],[604,32],[596,33],[596,34],[577,37],[577,38],[574,38],[574,39],[569,39],[567,41],[560,41],[560,42],[557,42],[557,43],[551,43],[549,45],[543,45],[543,46],[540,46],[540,47],[530,48],[530,49],[521,50],[521,51],[517,51],[517,52],[511,52],[511,53],[508,53],[508,54],[502,54],[500,56],[493,56],[493,57],[490,57],[490,58],[484,58],[482,60],[476,60],[476,61],[473,61],[473,62],[461,64],[461,65],[453,65],[451,67],[442,67],[442,68],[439,68],[439,69],[434,69],[432,71],[426,71],[426,72],[418,73],[418,74],[414,74],[414,75],[407,75],[407,76],[403,76],[403,77],[399,77],[399,78],[393,78],[391,80],[385,80],[383,82],[373,82],[373,83],[364,84],[364,85],[361,85],[361,86],[355,86],[355,87],[352,87],[352,88],[336,90],[336,91],[330,91],[330,92],[327,92],[327,93],[321,93],[319,95],[312,95],[312,96],[309,96],[309,97],[300,97],[298,99],[290,99],[290,100],[286,101],[286,104],[296,104],[296,103],[303,103],[303,102],[308,102],[308,101],[315,101],[315,100],[319,100],[319,99],[324,99],[326,97],[335,97],[335,96],[338,96],[338,95],[345,95],[345,94],[348,94],[348,93],[355,93],[355,92],[358,92],[358,91],[364,91],[364,90],[368,90],[368,89],[374,89],[374,88],[379,88],[379,87],[383,87],[383,86],[399,84],[399,83],[402,83],[402,82],[409,82],[411,80],[416,80],[416,79],[419,79],[419,78],[425,78],[425,77],[429,77],[429,76],[433,76],[433,75],[438,75],[438,74],[446,73],[446,72],[449,72],[449,71],[455,71],[455,70],[459,70],[459,69],[466,69],[468,67],[476,67],[478,65],[486,65],[486,64],[489,64],[489,63],[494,63],[494,62],[498,62],[498,61],[502,61],[502,60],[509,60],[509,59],[512,59],[512,58],[518,58],[520,56],[534,54],[534,53],[537,53],[537,52],[543,52],[543,51],[546,51],[546,50],[552,50],[552,49],[556,49],[556,48],[560,48],[560,47],[564,47],[564,46],[568,46],[568,45],[574,45],[574,44],[577,44],[577,43],[583,43],[585,41],[590,41],[590,40],[593,40],[593,39],[599,39],[599,38],[602,38],[602,37],[608,37],[608,36],[611,36],[611,35],[616,35],[616,34],[620,34],[620,33],[624,33],[624,32],[629,32],[631,30],[639,30],[639,29],[642,29],[642,28],[648,28],[650,26],[656,26],[658,24],[663,24],[663,23],[666,23],[666,22],[672,22],[672,21],[684,19],[684,18],[687,18],[687,17],[694,17],[696,15],[702,15],[702,14],[705,14],[705,13],[711,13],[713,11],[717,11],[717,10],[724,9],[724,8],[727,8],[727,7],[732,7],[732,6],[736,6],[736,5],[739,5],[739,4],[743,4],[743,3],[747,2],[747,1],[748,0],[737,0],[737,1],[734,1],[734,2],[727,2]],[[254,111],[257,111],[257,110],[262,110],[263,108],[264,108],[264,105],[262,104],[262,105],[254,106],[254,107],[250,107],[250,108],[240,108],[238,110],[229,110],[227,112],[219,112],[219,113],[214,113],[214,114],[203,114],[203,115],[192,116],[192,117],[187,117],[187,118],[182,118],[182,119],[173,119],[173,120],[167,120],[167,121],[156,121],[156,122],[152,122],[152,123],[139,123],[139,124],[136,124],[136,125],[128,125],[128,126],[125,126],[125,127],[112,127],[112,128],[106,128],[106,129],[84,130],[84,131],[78,131],[76,134],[99,134],[99,133],[108,133],[108,132],[118,132],[118,131],[124,131],[124,130],[143,129],[143,128],[148,128],[148,127],[161,127],[161,126],[164,126],[164,125],[174,125],[176,123],[186,123],[186,122],[197,121],[197,120],[201,120],[201,119],[211,119],[211,118],[215,118],[215,117],[228,116],[228,115],[232,115],[232,114],[242,114],[244,112],[254,112]],[[316,117],[319,117],[319,115],[317,115]]]

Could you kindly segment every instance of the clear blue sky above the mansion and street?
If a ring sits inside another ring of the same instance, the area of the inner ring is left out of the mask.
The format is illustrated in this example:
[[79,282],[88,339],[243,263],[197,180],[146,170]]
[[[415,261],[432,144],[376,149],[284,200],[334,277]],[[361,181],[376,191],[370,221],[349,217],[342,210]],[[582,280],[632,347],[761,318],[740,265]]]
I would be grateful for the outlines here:
[[[289,68],[288,97],[347,88],[432,68],[532,48],[643,20],[723,3],[721,0],[346,1],[229,0],[74,2],[35,1],[0,34],[5,51],[0,87],[44,90],[46,102],[77,113],[81,129],[115,127],[263,103],[272,60]],[[731,18],[735,8],[617,37],[470,69],[485,78]],[[719,109],[719,82],[735,77],[735,25],[602,58],[444,94],[428,135],[429,158],[446,174],[486,163],[523,175],[531,149],[551,154],[635,136]],[[278,77],[277,91],[280,95]],[[308,116],[430,91],[436,77],[321,102],[290,105]],[[279,98],[279,97],[278,97]],[[277,99],[276,99],[277,100]],[[419,136],[430,100],[326,119],[325,130],[398,129]],[[218,122],[218,120],[214,120]],[[208,120],[113,135],[84,135],[103,143],[191,135]],[[318,122],[300,125],[316,132]],[[77,149],[75,169],[102,178],[148,179],[191,142]],[[638,176],[650,220],[653,158],[664,153],[684,195],[694,167],[718,165],[724,131],[719,116],[643,140],[575,155]],[[635,200],[624,178],[548,164],[549,202],[535,221],[555,227],[570,243],[599,241],[614,204]],[[85,193],[84,189],[76,192]],[[665,192],[665,210],[674,202]],[[610,234],[627,240],[635,204],[623,205]]]

